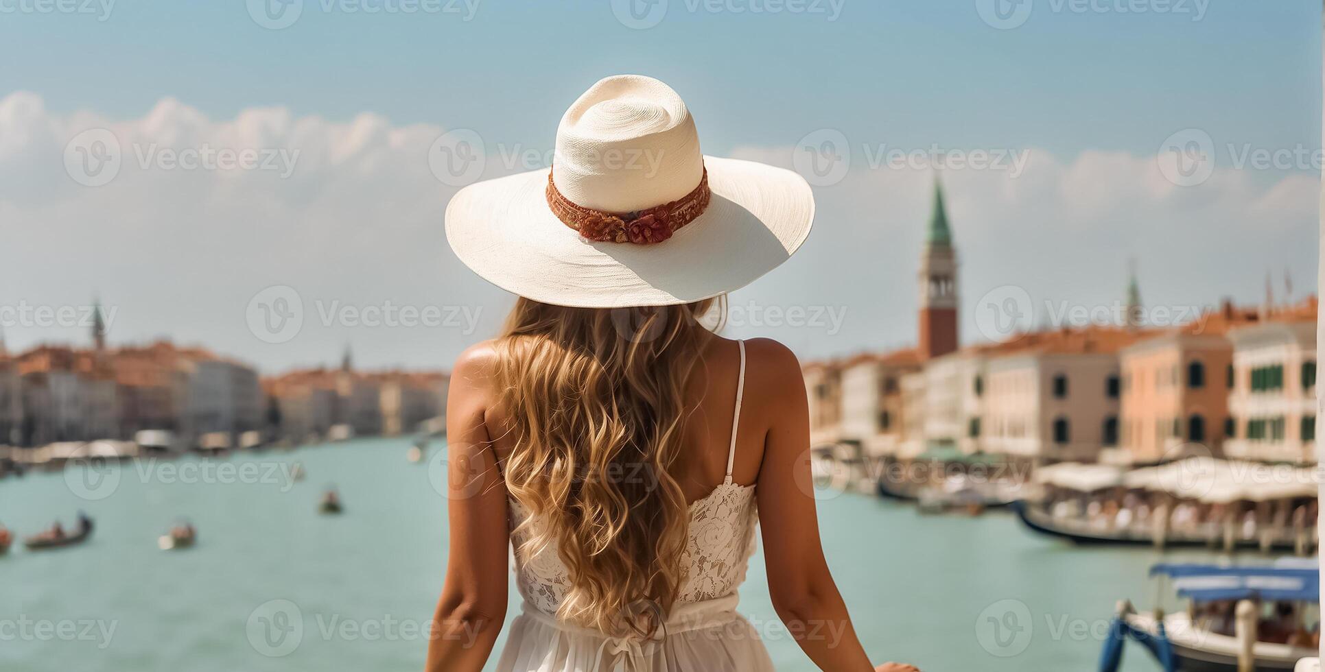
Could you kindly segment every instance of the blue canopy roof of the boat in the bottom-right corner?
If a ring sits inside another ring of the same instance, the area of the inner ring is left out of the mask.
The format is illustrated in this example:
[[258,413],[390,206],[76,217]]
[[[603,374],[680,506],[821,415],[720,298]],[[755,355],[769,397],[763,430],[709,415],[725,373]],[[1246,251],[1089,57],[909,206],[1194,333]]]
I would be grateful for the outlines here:
[[1196,602],[1214,599],[1284,599],[1320,602],[1320,570],[1304,566],[1227,567],[1219,565],[1159,564],[1150,575],[1173,579],[1178,597]]

